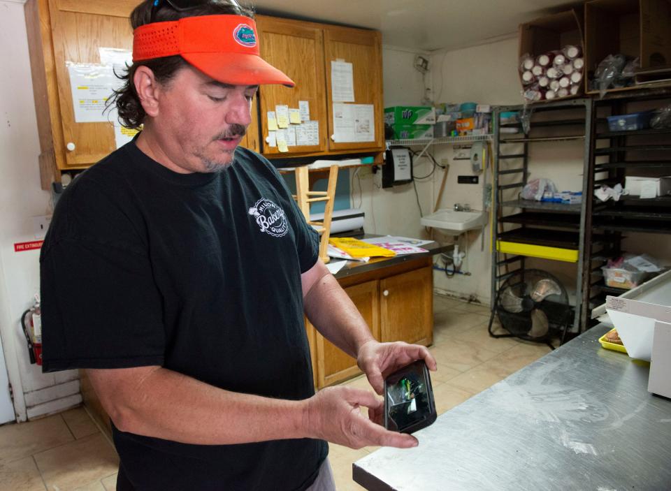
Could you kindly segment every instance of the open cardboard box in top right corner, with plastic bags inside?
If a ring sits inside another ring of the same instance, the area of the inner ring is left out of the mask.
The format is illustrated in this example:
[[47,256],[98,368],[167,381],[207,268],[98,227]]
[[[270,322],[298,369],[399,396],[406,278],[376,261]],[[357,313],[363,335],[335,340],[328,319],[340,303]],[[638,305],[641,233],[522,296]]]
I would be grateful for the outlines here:
[[[609,54],[639,58],[641,68],[671,64],[671,0],[592,0],[585,3],[586,83]],[[589,88],[589,85],[586,86]],[[632,90],[640,87],[609,89]],[[598,91],[586,91],[597,94]]]

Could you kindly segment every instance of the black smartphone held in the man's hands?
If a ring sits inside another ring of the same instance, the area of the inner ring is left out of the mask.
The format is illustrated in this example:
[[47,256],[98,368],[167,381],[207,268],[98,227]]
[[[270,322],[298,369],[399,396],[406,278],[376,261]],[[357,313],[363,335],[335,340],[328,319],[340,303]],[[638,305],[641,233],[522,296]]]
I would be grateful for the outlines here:
[[397,370],[384,380],[384,427],[414,433],[436,418],[431,377],[424,360]]

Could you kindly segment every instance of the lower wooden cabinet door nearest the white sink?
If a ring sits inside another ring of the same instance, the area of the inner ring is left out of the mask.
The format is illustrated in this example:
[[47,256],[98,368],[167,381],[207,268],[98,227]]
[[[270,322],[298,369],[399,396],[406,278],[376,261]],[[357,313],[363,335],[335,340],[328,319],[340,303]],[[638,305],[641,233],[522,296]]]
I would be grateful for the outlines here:
[[431,266],[380,279],[382,341],[433,343]]

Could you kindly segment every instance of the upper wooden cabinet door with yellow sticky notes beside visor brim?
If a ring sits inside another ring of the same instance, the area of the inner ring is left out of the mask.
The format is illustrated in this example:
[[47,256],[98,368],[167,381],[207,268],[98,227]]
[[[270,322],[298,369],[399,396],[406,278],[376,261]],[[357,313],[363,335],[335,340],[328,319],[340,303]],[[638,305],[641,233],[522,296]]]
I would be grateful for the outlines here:
[[[266,143],[268,136],[268,111],[276,105],[299,108],[298,101],[308,101],[310,120],[319,124],[319,136],[315,145],[289,147],[291,154],[326,151],[326,96],[324,94],[324,41],[322,29],[297,20],[257,17],[261,57],[283,71],[296,87],[264,85],[259,89],[261,109],[261,140],[265,155],[281,154],[279,147]],[[290,124],[296,129],[296,124]],[[283,155],[287,155],[284,153]]]

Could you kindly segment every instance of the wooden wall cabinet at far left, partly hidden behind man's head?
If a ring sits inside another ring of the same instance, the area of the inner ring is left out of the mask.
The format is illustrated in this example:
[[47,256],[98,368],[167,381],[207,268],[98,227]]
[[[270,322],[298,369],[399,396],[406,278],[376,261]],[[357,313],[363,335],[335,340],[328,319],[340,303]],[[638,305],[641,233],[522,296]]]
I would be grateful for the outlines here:
[[[101,47],[133,49],[129,16],[138,0],[28,0],[25,6],[41,155],[50,189],[68,170],[92,166],[116,149],[110,122],[75,122],[66,62],[100,64]],[[256,101],[241,144],[260,151]]]

